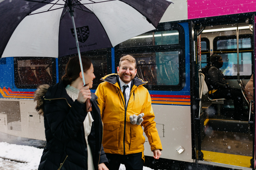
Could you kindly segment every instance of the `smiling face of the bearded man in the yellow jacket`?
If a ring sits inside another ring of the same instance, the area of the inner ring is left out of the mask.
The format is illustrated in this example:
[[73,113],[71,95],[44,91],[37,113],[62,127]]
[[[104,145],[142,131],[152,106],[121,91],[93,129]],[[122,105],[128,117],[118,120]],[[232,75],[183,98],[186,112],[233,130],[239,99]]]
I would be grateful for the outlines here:
[[136,76],[137,69],[135,68],[135,63],[129,62],[128,60],[122,61],[120,67],[117,67],[117,73],[120,79],[125,84],[128,84]]

